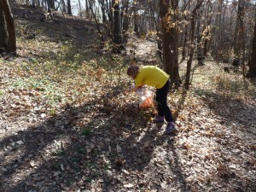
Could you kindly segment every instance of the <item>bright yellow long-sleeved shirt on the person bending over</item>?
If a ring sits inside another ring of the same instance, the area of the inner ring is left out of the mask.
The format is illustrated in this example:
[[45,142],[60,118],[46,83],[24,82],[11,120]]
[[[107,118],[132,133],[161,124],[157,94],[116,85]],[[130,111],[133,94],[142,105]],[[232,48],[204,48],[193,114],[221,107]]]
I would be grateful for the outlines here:
[[139,70],[136,78],[134,79],[136,86],[142,86],[148,84],[156,89],[162,88],[166,81],[170,78],[170,75],[165,73],[159,67],[145,66]]

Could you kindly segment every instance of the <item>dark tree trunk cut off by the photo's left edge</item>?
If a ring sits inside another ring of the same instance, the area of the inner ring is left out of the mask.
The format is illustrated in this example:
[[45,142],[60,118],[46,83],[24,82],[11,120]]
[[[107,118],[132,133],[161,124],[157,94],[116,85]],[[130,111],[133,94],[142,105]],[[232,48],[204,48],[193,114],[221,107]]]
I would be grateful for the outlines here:
[[7,48],[7,35],[6,22],[3,15],[2,5],[0,3],[0,53]]

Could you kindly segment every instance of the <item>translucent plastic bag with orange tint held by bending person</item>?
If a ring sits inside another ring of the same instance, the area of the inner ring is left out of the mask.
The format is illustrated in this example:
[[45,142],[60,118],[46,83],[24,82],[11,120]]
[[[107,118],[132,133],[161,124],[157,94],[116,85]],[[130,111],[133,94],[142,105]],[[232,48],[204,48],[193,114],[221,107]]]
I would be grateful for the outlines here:
[[154,92],[151,90],[137,90],[139,96],[139,108],[150,108],[154,105]]

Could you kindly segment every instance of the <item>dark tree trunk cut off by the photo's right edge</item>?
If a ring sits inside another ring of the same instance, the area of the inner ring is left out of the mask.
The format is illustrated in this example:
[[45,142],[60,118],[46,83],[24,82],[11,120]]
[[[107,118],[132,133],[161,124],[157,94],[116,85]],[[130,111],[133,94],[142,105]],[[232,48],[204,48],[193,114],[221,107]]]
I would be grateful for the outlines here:
[[247,72],[248,78],[256,77],[256,10],[254,15],[254,34],[253,34],[253,46],[252,46],[252,53],[251,59],[248,61],[249,70]]

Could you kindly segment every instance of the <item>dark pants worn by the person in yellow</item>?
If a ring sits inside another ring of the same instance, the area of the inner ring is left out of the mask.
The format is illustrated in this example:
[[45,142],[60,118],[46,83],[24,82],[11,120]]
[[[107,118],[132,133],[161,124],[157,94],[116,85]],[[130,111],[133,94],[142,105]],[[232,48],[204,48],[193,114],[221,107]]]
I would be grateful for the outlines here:
[[167,105],[167,95],[168,95],[168,90],[171,84],[171,80],[168,79],[166,84],[156,90],[156,102],[158,104],[158,115],[160,117],[165,117],[167,122],[172,122],[172,112],[170,108]]

